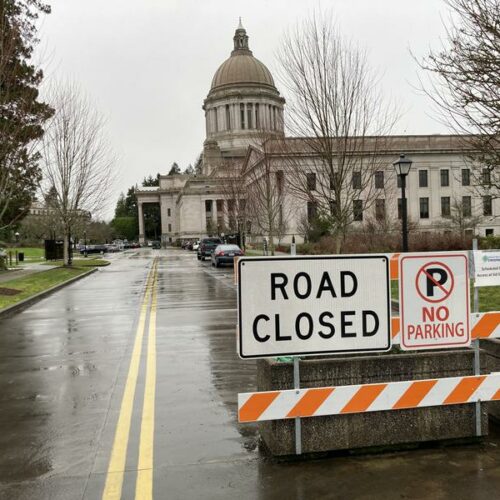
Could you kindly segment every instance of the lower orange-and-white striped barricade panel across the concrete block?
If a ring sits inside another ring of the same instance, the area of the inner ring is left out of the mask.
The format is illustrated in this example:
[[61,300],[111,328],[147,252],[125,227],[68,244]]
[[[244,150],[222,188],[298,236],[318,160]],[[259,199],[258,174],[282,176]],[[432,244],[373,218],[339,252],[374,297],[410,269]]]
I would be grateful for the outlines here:
[[239,422],[500,401],[500,373],[238,394]]

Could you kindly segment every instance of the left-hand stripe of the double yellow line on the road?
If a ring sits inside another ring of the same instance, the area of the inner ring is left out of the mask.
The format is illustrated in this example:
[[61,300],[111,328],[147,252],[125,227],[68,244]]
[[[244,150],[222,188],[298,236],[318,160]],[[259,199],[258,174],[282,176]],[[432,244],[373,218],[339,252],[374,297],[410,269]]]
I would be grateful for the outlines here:
[[151,289],[154,284],[155,272],[156,261],[153,263],[153,267],[149,271],[146,291],[141,305],[141,313],[139,316],[139,323],[137,325],[134,348],[130,359],[127,382],[123,392],[120,415],[116,425],[115,440],[113,442],[113,449],[111,451],[111,458],[106,476],[106,484],[102,495],[103,500],[119,500],[121,498],[123,475],[127,459],[128,438],[130,434],[130,421],[132,419],[135,388],[137,385],[137,375],[139,373],[139,363],[141,360],[142,340],[144,337],[149,299],[151,297]]

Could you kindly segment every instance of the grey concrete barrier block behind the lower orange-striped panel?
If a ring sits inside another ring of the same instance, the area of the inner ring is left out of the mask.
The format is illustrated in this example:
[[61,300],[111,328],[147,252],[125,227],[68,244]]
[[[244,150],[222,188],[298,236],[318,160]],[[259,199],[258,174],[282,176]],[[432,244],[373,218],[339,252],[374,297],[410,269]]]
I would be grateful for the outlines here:
[[[482,353],[482,363],[487,356]],[[360,355],[300,361],[301,387],[325,387],[472,375],[471,350]],[[293,388],[293,365],[273,360],[257,364],[259,391]],[[482,407],[482,434],[488,434],[487,407]],[[261,437],[276,456],[295,452],[294,421],[259,423]],[[348,450],[475,436],[475,405],[367,412],[302,419],[303,453]]]

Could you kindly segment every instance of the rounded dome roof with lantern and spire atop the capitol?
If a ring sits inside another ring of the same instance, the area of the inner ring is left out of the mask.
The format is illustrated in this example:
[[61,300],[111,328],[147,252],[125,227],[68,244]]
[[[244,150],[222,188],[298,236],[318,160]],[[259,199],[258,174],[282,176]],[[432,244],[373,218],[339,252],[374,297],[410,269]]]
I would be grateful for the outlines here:
[[253,56],[248,47],[248,36],[240,25],[234,34],[234,50],[215,72],[211,90],[226,85],[253,84],[275,87],[274,79],[266,65]]

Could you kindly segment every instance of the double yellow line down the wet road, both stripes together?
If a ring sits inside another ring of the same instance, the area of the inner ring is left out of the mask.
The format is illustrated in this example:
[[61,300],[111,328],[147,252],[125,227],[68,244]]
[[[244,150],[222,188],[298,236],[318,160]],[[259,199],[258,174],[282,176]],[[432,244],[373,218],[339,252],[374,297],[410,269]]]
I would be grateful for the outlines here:
[[[156,386],[156,306],[157,306],[158,260],[155,259],[146,281],[146,290],[141,304],[134,347],[123,392],[120,415],[116,425],[115,439],[109,461],[103,500],[119,500],[122,494],[123,477],[127,461],[130,423],[134,407],[135,389],[141,361],[142,344],[149,310],[148,345],[146,356],[146,385],[142,407],[139,463],[135,497],[140,500],[153,498],[153,443]],[[150,307],[151,302],[151,307]]]

